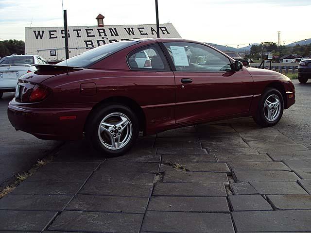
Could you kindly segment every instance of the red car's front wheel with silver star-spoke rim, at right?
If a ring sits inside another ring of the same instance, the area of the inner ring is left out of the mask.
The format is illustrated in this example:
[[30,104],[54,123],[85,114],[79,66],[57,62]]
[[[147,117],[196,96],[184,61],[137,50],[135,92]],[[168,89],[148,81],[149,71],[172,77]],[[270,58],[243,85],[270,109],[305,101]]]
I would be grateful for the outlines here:
[[281,119],[283,111],[284,100],[282,94],[275,88],[267,88],[261,95],[257,113],[256,116],[253,116],[253,119],[262,127],[274,126]]

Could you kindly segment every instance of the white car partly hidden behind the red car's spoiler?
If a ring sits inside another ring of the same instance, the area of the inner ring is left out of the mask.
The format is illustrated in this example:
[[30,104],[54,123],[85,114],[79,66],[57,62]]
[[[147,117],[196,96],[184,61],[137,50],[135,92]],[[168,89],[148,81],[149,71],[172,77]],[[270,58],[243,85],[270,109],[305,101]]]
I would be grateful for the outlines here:
[[12,55],[0,60],[0,98],[4,92],[15,92],[17,80],[23,74],[35,71],[33,64],[48,64],[37,55]]

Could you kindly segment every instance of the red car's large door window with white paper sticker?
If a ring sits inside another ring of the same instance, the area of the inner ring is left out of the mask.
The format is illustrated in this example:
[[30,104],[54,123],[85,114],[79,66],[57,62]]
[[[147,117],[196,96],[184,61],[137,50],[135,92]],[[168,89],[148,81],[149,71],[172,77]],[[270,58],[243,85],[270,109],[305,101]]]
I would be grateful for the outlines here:
[[168,42],[164,45],[177,71],[231,71],[229,58],[208,46],[188,42]]

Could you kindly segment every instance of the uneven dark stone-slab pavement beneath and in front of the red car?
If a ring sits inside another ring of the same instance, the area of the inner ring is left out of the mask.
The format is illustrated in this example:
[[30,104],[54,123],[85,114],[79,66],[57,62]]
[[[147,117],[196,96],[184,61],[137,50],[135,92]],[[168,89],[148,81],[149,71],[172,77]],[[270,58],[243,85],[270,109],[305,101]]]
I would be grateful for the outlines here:
[[84,141],[56,156],[0,199],[0,231],[311,232],[311,150],[251,118],[141,136],[118,158]]

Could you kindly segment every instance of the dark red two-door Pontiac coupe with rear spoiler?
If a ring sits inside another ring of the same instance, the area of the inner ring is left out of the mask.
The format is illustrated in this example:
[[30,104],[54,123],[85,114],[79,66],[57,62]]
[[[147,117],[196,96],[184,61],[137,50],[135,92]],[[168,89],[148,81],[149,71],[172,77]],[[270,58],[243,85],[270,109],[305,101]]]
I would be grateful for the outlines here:
[[[138,65],[141,51],[148,66]],[[286,76],[243,67],[207,44],[183,39],[115,42],[36,67],[18,80],[8,106],[12,125],[40,139],[85,135],[105,156],[129,150],[139,131],[150,135],[242,116],[273,126],[295,102]]]

